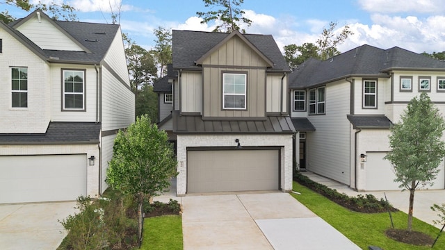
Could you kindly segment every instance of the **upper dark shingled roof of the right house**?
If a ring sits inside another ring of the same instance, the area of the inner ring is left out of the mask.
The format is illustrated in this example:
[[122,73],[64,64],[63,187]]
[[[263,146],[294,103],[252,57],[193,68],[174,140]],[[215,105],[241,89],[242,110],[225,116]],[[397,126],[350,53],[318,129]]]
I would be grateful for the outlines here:
[[289,74],[289,88],[308,88],[346,77],[389,77],[395,69],[445,70],[445,62],[406,49],[364,44],[328,60],[311,58]]

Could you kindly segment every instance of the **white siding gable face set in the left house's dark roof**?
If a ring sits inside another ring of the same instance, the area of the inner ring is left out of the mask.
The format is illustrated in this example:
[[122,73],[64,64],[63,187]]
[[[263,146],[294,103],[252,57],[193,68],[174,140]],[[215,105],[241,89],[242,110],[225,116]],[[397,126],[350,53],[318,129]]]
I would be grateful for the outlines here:
[[40,18],[39,22],[37,15],[31,17],[26,23],[19,26],[17,31],[20,31],[41,49],[83,51],[79,45],[68,38],[67,35],[47,19]]

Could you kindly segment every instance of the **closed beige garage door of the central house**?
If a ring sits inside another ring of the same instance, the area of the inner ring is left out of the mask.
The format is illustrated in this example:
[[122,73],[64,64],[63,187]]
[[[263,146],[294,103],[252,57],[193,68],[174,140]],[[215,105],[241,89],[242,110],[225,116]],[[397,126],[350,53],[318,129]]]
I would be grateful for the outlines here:
[[188,151],[187,192],[278,190],[278,150]]

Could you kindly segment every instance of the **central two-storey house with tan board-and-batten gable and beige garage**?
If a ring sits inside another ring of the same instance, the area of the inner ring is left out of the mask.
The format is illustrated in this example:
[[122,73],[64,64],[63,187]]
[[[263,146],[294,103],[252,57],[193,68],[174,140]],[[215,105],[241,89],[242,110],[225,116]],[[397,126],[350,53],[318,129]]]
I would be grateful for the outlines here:
[[177,143],[177,195],[291,190],[290,70],[272,36],[173,31],[172,52],[160,125]]

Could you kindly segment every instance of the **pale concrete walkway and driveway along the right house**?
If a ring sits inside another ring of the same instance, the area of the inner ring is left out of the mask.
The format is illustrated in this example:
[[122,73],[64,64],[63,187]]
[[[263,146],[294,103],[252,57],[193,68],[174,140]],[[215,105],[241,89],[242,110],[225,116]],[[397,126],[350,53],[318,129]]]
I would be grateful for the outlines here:
[[[347,185],[333,181],[330,178],[325,178],[314,174],[312,172],[300,172],[301,174],[309,177],[312,181],[326,185],[329,188],[335,189],[338,192],[348,194],[349,196],[357,196],[358,194],[373,194],[378,199],[385,199],[385,194],[389,203],[394,208],[408,213],[408,207],[410,205],[410,192],[409,191],[377,191],[377,192],[357,192],[352,190]],[[439,219],[437,213],[432,211],[430,207],[434,204],[445,203],[445,190],[416,190],[414,193],[414,210],[413,215],[417,219],[421,219],[423,222],[442,228],[443,225],[435,225],[432,221]]]

